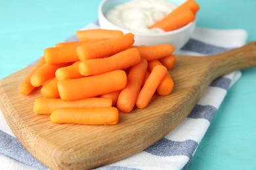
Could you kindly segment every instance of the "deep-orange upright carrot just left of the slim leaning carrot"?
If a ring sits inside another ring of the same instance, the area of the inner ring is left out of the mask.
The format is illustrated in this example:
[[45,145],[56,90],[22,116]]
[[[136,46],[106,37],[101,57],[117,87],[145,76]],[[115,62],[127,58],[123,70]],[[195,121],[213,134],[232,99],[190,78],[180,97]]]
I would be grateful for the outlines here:
[[133,110],[147,67],[146,59],[141,59],[137,65],[131,67],[127,76],[127,85],[121,90],[117,100],[117,109],[121,112],[128,113]]

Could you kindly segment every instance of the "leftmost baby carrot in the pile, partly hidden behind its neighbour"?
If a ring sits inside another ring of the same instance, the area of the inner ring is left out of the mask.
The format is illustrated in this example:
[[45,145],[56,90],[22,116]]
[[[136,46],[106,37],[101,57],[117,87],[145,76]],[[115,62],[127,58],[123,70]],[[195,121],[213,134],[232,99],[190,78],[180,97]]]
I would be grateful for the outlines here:
[[30,82],[30,78],[33,75],[33,73],[35,73],[35,71],[37,71],[37,69],[39,69],[44,64],[45,58],[41,57],[39,61],[37,61],[36,65],[33,67],[32,71],[30,71],[30,73],[28,73],[24,80],[22,80],[22,82],[19,84],[18,92],[24,95],[28,95],[35,89],[35,87]]

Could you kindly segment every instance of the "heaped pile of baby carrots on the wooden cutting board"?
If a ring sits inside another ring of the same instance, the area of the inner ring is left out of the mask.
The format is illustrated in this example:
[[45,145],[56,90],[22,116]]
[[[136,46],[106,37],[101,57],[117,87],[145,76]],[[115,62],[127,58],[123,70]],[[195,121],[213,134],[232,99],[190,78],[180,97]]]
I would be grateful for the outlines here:
[[108,29],[77,31],[77,37],[46,48],[20,83],[24,95],[41,88],[33,112],[51,114],[54,123],[117,124],[119,111],[144,109],[154,93],[172,92],[171,44],[134,46],[132,33]]

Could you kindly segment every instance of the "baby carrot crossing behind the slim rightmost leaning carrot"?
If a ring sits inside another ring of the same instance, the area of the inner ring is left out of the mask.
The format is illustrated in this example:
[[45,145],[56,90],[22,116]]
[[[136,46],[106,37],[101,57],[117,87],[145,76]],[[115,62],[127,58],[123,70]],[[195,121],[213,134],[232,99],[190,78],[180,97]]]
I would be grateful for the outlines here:
[[[148,70],[151,72],[154,69],[154,67],[156,67],[156,65],[162,64],[158,60],[150,61],[148,63]],[[161,80],[156,91],[158,92],[159,95],[169,95],[173,91],[173,86],[173,78],[171,78],[169,72],[166,71],[165,76]]]

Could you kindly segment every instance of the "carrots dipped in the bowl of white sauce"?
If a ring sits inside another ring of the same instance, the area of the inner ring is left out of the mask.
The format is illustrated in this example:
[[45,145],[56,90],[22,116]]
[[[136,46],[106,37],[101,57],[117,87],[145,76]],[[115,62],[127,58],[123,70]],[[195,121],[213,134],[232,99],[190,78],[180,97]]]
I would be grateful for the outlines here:
[[160,28],[164,31],[179,29],[184,25],[193,22],[196,19],[196,13],[198,10],[200,10],[200,6],[196,1],[187,0],[163,19],[153,25],[150,25],[149,28]]

